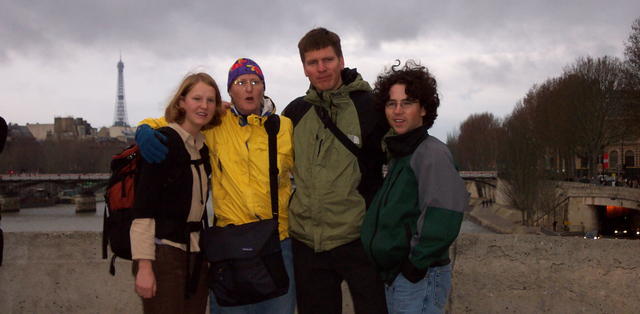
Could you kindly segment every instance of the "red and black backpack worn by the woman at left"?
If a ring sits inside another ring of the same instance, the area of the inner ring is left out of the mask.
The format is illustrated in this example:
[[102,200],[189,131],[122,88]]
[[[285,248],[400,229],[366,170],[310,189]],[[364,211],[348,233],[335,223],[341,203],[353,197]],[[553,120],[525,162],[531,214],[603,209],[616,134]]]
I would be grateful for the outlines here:
[[107,259],[107,246],[110,246],[113,252],[109,266],[111,275],[115,275],[116,256],[131,260],[129,230],[133,221],[140,158],[138,146],[131,145],[111,159],[111,177],[104,195],[102,225],[102,258]]

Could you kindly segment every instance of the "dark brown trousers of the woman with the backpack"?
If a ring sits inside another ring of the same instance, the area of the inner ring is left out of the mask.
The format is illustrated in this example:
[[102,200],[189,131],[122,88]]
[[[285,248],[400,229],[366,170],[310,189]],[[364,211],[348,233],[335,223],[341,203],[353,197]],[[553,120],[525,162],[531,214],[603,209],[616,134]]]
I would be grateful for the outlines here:
[[[187,252],[169,246],[156,245],[156,260],[152,262],[153,273],[156,276],[156,296],[142,299],[145,314],[157,313],[193,313],[203,314],[207,308],[208,263],[202,261],[198,276],[195,295],[185,298]],[[193,271],[196,254],[191,253],[190,270]],[[134,276],[137,273],[137,263],[133,263]]]

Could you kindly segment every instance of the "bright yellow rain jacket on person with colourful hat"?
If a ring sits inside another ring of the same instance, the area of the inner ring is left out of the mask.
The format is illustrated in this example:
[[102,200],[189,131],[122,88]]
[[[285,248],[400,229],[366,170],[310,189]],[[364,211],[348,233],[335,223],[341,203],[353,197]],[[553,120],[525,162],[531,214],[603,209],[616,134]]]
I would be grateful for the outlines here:
[[[263,123],[275,114],[271,99],[265,97],[260,116],[252,114],[244,120],[228,109],[222,123],[205,130],[205,143],[211,158],[213,209],[218,226],[241,225],[271,218],[269,188],[269,149]],[[153,128],[167,125],[164,118],[145,119],[140,124]],[[293,126],[289,118],[280,116],[278,132],[278,203],[280,240],[289,237],[290,173],[293,168]],[[259,218],[258,218],[259,217]]]

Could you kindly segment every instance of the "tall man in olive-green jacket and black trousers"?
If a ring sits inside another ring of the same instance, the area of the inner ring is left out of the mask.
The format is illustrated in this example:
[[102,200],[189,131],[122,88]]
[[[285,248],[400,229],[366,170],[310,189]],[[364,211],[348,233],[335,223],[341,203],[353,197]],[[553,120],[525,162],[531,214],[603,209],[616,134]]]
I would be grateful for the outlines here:
[[[382,182],[381,139],[388,125],[374,109],[369,84],[344,67],[338,35],[313,29],[298,49],[311,86],[283,111],[294,123],[289,224],[298,313],[341,313],[343,280],[356,313],[386,313],[383,283],[364,253],[360,226]],[[359,157],[327,120],[357,146]]]

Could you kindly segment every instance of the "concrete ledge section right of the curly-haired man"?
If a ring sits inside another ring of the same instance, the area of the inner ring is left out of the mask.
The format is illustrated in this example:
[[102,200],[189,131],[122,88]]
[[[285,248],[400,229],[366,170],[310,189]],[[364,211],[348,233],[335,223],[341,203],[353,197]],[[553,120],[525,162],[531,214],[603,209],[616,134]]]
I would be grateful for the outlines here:
[[452,313],[637,313],[639,242],[463,234]]

